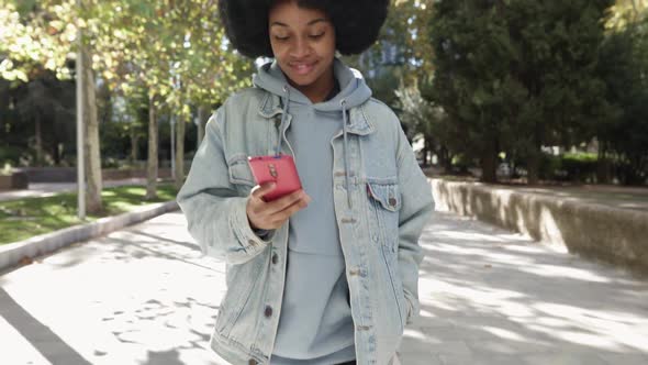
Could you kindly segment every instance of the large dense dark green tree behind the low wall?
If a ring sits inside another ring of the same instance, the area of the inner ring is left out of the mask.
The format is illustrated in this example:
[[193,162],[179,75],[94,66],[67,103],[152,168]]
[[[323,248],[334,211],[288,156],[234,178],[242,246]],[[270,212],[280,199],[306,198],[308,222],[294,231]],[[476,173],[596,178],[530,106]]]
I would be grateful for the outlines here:
[[[540,148],[585,140],[606,114],[593,70],[608,0],[438,1],[431,19],[434,99],[495,181],[498,154],[527,162],[538,179]],[[457,146],[461,147],[461,146]]]

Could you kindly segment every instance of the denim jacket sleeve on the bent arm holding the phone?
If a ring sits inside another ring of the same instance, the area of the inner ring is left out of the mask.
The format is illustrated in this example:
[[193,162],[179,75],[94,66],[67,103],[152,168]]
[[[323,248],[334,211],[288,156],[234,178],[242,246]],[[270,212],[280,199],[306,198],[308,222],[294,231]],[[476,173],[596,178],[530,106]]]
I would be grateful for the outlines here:
[[230,181],[220,132],[223,113],[221,108],[208,121],[177,201],[203,254],[243,264],[262,252],[272,234],[262,239],[255,234],[247,219],[247,197],[241,197]]

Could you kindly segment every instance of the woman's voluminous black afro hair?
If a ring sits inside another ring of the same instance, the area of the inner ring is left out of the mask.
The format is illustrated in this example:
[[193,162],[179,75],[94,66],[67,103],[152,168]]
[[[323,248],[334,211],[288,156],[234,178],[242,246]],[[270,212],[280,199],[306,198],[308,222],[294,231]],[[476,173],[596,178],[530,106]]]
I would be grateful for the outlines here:
[[[219,0],[221,21],[230,42],[243,55],[272,57],[268,12],[278,0]],[[389,0],[292,0],[305,9],[324,11],[335,27],[343,55],[362,53],[378,38]]]

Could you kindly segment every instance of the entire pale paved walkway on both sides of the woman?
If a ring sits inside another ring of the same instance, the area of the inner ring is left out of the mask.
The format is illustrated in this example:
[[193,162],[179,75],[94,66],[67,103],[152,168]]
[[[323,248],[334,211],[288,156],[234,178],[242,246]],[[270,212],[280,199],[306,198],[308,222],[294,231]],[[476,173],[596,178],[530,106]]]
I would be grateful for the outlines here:
[[[206,350],[225,290],[179,213],[0,276],[2,363],[227,364]],[[500,229],[437,212],[422,317],[404,365],[648,364],[648,283]]]

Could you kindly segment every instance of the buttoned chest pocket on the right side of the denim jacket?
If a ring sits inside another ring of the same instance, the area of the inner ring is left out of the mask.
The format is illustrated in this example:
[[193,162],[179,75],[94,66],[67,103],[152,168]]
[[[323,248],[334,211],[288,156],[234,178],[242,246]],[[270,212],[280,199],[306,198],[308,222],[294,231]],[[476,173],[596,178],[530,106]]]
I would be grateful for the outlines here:
[[370,222],[373,241],[379,241],[395,252],[399,236],[399,210],[401,195],[399,184],[390,180],[368,180],[367,196],[369,199]]

